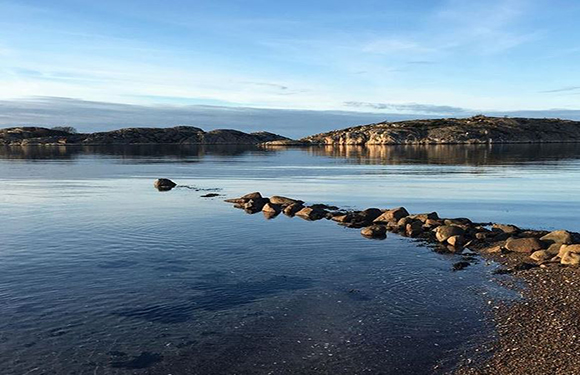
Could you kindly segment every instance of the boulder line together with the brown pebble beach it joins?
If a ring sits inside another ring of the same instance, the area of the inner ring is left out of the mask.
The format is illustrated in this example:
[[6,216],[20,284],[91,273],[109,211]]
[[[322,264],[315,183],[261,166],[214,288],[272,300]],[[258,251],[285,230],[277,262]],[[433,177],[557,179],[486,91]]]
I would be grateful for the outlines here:
[[474,223],[468,218],[441,218],[436,212],[410,214],[403,207],[342,210],[281,196],[263,197],[259,192],[226,202],[249,214],[262,212],[267,219],[283,213],[310,221],[333,220],[360,229],[366,238],[385,239],[389,232],[413,237],[432,244],[435,251],[460,255],[453,271],[468,267],[478,256],[493,260],[502,265],[494,272],[498,278],[510,274],[524,282],[523,288],[518,287],[524,298],[488,301],[497,338],[467,350],[451,373],[578,373],[580,233]]

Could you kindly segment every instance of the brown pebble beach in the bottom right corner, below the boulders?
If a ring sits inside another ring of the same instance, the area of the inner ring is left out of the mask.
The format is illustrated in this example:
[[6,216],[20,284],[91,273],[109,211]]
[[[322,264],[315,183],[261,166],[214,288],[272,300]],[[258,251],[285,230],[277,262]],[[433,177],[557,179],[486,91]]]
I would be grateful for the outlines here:
[[524,298],[497,304],[497,341],[462,358],[455,374],[580,374],[580,269],[551,265],[514,276],[525,283]]

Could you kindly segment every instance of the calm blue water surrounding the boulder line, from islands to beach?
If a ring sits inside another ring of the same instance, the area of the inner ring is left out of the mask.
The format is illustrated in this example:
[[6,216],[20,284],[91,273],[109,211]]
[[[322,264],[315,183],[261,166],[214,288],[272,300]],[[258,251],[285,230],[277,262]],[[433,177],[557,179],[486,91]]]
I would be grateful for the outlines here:
[[[157,177],[180,185],[160,193]],[[259,190],[580,229],[580,145],[0,149],[2,374],[428,374],[513,298],[389,235],[265,220]],[[218,190],[218,198],[200,197]]]

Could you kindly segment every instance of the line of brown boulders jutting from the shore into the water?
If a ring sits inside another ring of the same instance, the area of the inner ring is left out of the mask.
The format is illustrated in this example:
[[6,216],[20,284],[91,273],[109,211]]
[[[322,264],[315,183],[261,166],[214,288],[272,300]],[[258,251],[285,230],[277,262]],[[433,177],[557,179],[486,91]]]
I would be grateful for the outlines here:
[[384,239],[387,232],[393,232],[438,244],[438,249],[453,253],[467,248],[486,254],[523,255],[535,265],[580,265],[580,234],[565,230],[523,230],[515,225],[474,223],[468,218],[441,218],[436,212],[410,214],[404,207],[350,211],[325,204],[305,205],[282,196],[268,198],[259,192],[225,201],[250,214],[263,212],[267,219],[284,213],[311,221],[333,220],[361,229],[367,238]]

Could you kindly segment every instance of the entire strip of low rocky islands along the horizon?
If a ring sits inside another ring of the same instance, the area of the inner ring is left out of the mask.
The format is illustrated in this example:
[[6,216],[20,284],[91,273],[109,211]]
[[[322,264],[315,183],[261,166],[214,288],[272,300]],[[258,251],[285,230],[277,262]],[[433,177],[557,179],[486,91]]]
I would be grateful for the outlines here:
[[244,133],[192,126],[126,128],[71,133],[42,127],[0,129],[0,145],[260,145],[386,146],[580,143],[580,121],[474,116],[382,122],[315,134],[298,140],[269,132]]

